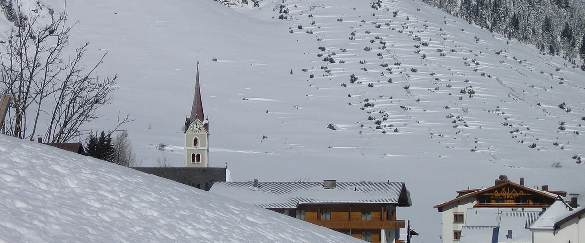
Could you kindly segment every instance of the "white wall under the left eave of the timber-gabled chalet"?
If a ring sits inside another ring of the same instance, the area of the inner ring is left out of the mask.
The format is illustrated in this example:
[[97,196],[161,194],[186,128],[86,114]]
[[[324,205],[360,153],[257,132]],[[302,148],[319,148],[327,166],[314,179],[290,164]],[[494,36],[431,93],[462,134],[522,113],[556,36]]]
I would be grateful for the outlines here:
[[[461,231],[465,224],[467,209],[472,208],[476,204],[476,198],[471,197],[460,200],[459,203],[451,203],[450,205],[443,206],[443,242],[452,243],[459,242],[459,240],[453,240],[453,231]],[[453,222],[453,214],[463,214],[463,222]]]

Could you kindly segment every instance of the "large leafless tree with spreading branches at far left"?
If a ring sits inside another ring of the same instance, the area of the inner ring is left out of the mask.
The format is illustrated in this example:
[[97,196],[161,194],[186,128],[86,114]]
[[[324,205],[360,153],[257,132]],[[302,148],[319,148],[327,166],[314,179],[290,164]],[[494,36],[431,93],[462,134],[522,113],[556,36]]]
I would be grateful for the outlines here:
[[[50,18],[43,18],[17,11],[15,29],[0,49],[0,93],[13,97],[0,132],[32,140],[43,129],[49,143],[77,138],[85,122],[101,117],[96,111],[111,103],[117,89],[117,75],[100,78],[96,73],[107,52],[90,68],[82,62],[89,43],[66,59],[63,51],[75,26],[66,25],[67,12],[49,11]],[[130,121],[126,117],[119,125]]]

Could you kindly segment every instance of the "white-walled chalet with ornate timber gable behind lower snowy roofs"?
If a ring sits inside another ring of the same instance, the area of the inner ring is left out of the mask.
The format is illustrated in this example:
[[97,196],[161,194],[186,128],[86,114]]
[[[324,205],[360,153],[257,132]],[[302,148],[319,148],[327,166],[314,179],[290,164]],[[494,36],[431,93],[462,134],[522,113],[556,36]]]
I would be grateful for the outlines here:
[[467,209],[473,208],[500,208],[508,210],[545,209],[555,203],[559,197],[565,197],[566,192],[549,190],[548,185],[541,189],[524,185],[524,178],[516,184],[501,175],[495,185],[481,189],[466,189],[457,191],[455,199],[436,205],[442,216],[443,242],[459,242],[462,228],[466,222]]

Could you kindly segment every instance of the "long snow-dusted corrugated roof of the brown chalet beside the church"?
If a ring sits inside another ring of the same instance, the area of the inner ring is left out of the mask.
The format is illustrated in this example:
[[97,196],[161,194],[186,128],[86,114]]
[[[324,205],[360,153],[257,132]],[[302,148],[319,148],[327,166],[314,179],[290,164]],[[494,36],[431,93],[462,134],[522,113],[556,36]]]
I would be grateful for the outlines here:
[[264,208],[296,208],[301,203],[385,203],[411,206],[404,182],[215,182],[210,192]]

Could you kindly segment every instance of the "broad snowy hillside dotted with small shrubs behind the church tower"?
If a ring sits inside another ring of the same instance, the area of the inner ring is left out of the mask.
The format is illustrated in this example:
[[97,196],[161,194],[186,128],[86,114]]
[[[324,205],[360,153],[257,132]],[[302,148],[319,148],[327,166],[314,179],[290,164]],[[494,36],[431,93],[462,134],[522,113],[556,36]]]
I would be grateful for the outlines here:
[[90,41],[88,60],[107,50],[99,72],[120,77],[112,105],[86,128],[113,128],[130,113],[123,129],[144,166],[183,165],[199,56],[209,163],[228,163],[235,181],[404,181],[414,206],[398,217],[425,242],[441,234],[434,205],[498,175],[585,193],[584,73],[422,2],[78,0],[67,9],[80,20],[71,44]]

